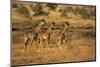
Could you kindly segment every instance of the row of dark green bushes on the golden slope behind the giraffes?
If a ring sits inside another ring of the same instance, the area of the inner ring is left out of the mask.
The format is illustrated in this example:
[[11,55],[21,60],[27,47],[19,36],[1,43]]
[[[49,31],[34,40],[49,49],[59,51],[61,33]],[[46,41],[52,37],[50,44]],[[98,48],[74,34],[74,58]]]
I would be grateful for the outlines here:
[[[32,5],[31,9],[34,13],[34,16],[41,16],[41,15],[44,15],[44,16],[48,16],[50,10],[56,10],[57,8],[57,4],[51,4],[51,3],[47,3],[46,4],[46,7],[48,7],[48,11],[45,11],[42,6],[41,3],[37,3],[35,5]],[[29,10],[25,7],[25,6],[21,6],[21,7],[18,7],[18,4],[16,2],[12,3],[12,8],[17,8],[17,12],[23,16],[26,16],[28,17],[29,16]],[[76,8],[72,8],[70,6],[65,6],[63,8],[60,8],[59,9],[59,12],[61,13],[61,17],[65,17],[67,18],[68,16],[68,12],[73,12],[74,14],[76,15],[80,15],[82,18],[84,19],[89,19],[89,18],[92,18],[92,17],[95,17],[96,16],[96,9],[93,9],[94,7],[92,6],[85,6],[85,7],[76,7]]]

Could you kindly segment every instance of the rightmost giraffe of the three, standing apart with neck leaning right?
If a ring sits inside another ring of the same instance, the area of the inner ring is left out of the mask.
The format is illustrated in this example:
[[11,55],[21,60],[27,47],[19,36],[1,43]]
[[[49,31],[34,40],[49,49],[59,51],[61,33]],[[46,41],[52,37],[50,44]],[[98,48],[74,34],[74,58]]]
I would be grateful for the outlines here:
[[[69,23],[66,22],[66,23],[64,24],[64,28],[63,28],[63,29],[60,29],[60,31],[56,34],[56,38],[57,38],[57,39],[56,39],[56,42],[57,42],[57,45],[58,45],[58,46],[59,46],[59,45],[62,45],[63,41],[65,42],[65,32],[66,32],[68,26],[69,26]],[[59,46],[59,47],[60,47],[60,46]]]

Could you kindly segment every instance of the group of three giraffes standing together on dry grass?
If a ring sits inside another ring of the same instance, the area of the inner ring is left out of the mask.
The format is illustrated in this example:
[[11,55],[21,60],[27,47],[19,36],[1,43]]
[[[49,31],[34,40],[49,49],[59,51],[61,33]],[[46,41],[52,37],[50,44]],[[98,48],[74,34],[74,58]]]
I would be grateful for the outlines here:
[[[45,29],[44,26],[46,24],[48,24],[48,27]],[[28,45],[32,46],[33,42],[37,46],[39,46],[39,48],[41,48],[40,46],[48,47],[50,44],[55,44],[58,47],[60,47],[60,45],[66,44],[65,32],[69,28],[69,22],[64,22],[63,28],[55,32],[54,37],[51,38],[51,35],[53,35],[52,32],[54,31],[55,24],[55,22],[46,23],[44,19],[41,19],[36,27],[32,28],[30,31],[24,32],[25,51]]]

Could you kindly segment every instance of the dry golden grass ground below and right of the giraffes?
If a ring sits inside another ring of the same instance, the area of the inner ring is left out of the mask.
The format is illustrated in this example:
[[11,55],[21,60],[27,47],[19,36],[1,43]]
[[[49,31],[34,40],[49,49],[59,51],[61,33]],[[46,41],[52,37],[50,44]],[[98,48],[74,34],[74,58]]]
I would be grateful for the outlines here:
[[[13,32],[14,35],[15,33],[18,35],[18,32]],[[67,43],[66,46],[61,45],[61,49],[57,46],[49,46],[48,48],[42,47],[39,51],[39,48],[33,43],[32,47],[28,46],[27,55],[23,42],[13,43],[12,63],[26,65],[95,60],[95,29],[76,29],[74,32],[66,34],[68,35]]]

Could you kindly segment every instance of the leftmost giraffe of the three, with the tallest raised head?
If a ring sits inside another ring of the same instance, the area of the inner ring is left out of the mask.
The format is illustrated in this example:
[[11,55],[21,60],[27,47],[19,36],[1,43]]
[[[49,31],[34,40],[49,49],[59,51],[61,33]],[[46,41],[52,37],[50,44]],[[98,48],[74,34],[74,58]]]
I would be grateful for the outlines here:
[[45,24],[45,20],[42,19],[40,20],[40,23],[33,29],[31,29],[31,31],[26,31],[24,33],[24,48],[26,51],[26,48],[28,46],[28,41],[30,40],[30,44],[32,46],[33,40],[36,41],[37,37],[38,37],[38,32],[40,31],[40,29],[42,28],[42,26]]

